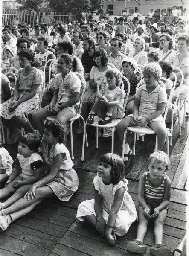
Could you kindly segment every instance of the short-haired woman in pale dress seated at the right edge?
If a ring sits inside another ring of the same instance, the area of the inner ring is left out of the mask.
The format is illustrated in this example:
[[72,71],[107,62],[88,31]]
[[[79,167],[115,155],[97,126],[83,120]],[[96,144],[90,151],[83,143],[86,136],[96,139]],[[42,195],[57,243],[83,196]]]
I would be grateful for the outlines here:
[[[177,41],[178,54],[174,56],[172,65],[175,67],[179,67],[183,71],[184,81],[182,87],[180,88],[179,99],[187,99],[188,98],[188,89],[189,89],[189,36],[188,35],[180,35]],[[177,76],[177,84],[176,89],[173,93],[172,102],[176,100],[177,93],[180,87],[181,74],[179,71],[174,70]],[[171,75],[169,77],[172,81],[174,80],[174,76]]]

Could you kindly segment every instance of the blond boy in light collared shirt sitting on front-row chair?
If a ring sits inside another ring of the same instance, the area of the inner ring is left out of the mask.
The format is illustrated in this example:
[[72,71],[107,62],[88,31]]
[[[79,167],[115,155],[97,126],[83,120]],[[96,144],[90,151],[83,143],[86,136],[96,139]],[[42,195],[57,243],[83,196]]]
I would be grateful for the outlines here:
[[[117,125],[119,139],[123,143],[124,132],[128,126],[148,125],[157,134],[158,150],[163,148],[166,141],[167,129],[162,114],[165,111],[167,95],[159,81],[162,70],[157,63],[148,63],[142,70],[145,84],[140,86],[135,94],[133,114],[126,116]],[[132,151],[128,145],[128,136],[125,139],[125,164],[129,164]]]

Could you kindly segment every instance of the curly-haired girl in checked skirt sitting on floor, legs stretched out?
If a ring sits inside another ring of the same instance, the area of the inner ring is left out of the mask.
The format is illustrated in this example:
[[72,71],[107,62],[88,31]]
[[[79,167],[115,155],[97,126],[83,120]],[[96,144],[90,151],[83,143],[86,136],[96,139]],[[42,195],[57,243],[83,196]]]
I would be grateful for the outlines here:
[[[78,176],[73,167],[70,153],[63,144],[64,127],[57,120],[47,121],[42,138],[42,151],[46,176],[28,187],[23,198],[0,211],[0,231],[9,224],[30,212],[45,198],[57,196],[68,201],[78,189]],[[23,187],[22,187],[23,188]],[[18,189],[23,193],[22,188]],[[24,196],[25,195],[25,196]]]

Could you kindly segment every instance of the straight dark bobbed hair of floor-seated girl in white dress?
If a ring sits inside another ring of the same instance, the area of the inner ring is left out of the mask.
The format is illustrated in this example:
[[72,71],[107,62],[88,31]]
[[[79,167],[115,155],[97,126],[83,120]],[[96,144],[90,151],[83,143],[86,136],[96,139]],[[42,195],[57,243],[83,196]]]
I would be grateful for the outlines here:
[[124,180],[124,163],[118,154],[107,153],[102,155],[99,160],[111,166],[110,174],[112,175],[111,182],[113,185]]

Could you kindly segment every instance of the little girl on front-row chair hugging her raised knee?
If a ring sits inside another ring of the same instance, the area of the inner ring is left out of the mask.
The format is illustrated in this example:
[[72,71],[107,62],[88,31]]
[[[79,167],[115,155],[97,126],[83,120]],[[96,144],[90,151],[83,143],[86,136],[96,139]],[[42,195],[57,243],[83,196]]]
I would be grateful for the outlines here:
[[[112,119],[122,117],[122,109],[125,97],[125,91],[120,88],[122,75],[118,69],[110,68],[106,72],[105,87],[96,95],[95,103],[89,113],[87,123],[93,124],[94,115],[99,111],[99,115],[102,118],[99,120],[99,125],[105,125],[112,122]],[[107,130],[105,131],[105,134]],[[108,137],[103,135],[103,137]]]

